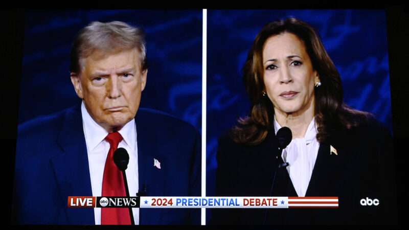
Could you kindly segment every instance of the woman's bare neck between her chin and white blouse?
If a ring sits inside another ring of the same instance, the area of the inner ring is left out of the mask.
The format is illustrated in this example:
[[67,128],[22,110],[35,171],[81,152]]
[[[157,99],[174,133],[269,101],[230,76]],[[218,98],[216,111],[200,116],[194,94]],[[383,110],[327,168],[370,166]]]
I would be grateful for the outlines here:
[[314,99],[297,112],[286,113],[274,108],[277,122],[281,127],[287,126],[291,129],[292,139],[303,138],[307,132],[308,125],[314,117]]

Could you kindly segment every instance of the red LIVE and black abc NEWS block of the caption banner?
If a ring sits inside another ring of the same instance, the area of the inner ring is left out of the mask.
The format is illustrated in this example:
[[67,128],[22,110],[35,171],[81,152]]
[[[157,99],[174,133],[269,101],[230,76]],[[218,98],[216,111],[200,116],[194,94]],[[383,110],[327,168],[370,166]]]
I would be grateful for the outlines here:
[[69,208],[139,208],[139,197],[69,196]]

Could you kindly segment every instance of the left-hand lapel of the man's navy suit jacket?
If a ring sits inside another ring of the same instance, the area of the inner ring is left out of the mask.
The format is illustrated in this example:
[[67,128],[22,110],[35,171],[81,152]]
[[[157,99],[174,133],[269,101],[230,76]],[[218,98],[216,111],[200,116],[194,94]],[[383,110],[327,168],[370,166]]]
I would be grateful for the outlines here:
[[67,209],[68,196],[92,196],[80,106],[66,111],[57,137],[62,152],[51,159],[70,224],[95,224],[93,209]]

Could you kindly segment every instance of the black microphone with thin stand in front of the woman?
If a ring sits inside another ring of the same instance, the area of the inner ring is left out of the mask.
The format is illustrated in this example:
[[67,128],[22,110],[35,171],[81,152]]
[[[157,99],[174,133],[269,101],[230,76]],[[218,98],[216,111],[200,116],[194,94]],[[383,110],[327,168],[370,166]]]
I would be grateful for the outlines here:
[[[274,131],[274,130],[272,130]],[[272,195],[272,189],[274,188],[274,183],[276,181],[276,175],[277,175],[277,170],[279,168],[285,168],[288,166],[288,162],[284,163],[283,159],[281,158],[281,154],[283,152],[283,149],[285,149],[287,147],[288,144],[290,144],[291,140],[292,140],[292,133],[291,133],[291,129],[288,127],[282,127],[281,129],[279,129],[277,131],[276,134],[277,140],[278,140],[278,154],[276,155],[276,159],[278,160],[278,167],[277,169],[274,171],[274,176],[272,177],[272,183],[271,183],[271,188],[270,188],[270,194],[269,196]],[[264,221],[263,221],[263,225],[265,224],[266,220],[267,220],[267,211],[268,209],[266,209],[264,211]]]

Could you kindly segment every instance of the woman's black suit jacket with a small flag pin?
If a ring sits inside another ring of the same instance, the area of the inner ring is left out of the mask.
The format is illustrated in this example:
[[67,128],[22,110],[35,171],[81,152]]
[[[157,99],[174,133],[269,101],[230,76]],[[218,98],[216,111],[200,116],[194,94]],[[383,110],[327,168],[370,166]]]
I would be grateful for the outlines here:
[[[277,168],[278,144],[273,131],[257,146],[237,144],[228,135],[221,137],[217,153],[216,196],[298,196],[287,170]],[[397,224],[391,143],[389,131],[370,119],[349,131],[333,133],[320,144],[305,196],[337,196],[338,209],[268,209],[267,214],[266,209],[213,209],[211,222]],[[331,145],[337,155],[330,153]],[[367,197],[378,199],[379,205],[362,206],[360,200]]]

